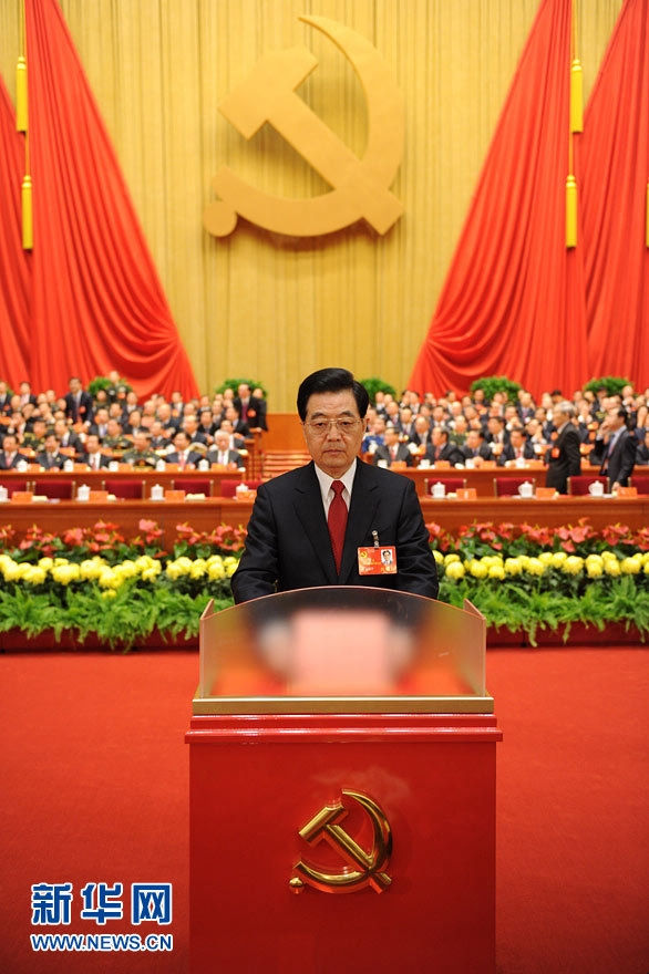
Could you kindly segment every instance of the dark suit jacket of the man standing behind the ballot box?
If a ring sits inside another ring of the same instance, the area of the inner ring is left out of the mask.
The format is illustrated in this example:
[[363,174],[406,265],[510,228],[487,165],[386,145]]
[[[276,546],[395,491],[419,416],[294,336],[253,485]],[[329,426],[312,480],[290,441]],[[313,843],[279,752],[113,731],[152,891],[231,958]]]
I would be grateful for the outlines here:
[[[381,545],[395,546],[396,574],[359,574],[357,549],[373,545],[372,531]],[[258,488],[246,550],[231,579],[235,601],[316,586],[436,597],[435,560],[412,480],[357,460],[339,576],[313,463]]]

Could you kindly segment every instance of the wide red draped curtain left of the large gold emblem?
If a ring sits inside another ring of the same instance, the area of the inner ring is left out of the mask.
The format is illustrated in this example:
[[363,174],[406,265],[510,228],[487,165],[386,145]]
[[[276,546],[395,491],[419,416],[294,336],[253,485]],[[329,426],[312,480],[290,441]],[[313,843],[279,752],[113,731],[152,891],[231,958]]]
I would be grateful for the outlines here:
[[141,397],[197,394],[120,165],[55,0],[25,0],[34,183],[31,380],[116,369]]

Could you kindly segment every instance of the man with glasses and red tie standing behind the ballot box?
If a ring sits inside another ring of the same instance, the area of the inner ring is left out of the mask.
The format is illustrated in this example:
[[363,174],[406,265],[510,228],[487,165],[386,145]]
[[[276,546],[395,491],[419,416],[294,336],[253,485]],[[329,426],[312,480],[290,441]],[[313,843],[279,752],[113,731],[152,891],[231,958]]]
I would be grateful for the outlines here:
[[[231,579],[236,602],[313,586],[372,586],[437,594],[414,484],[358,459],[369,398],[346,369],[321,369],[298,391],[312,462],[262,484],[246,550]],[[394,546],[394,574],[359,572],[359,548]]]

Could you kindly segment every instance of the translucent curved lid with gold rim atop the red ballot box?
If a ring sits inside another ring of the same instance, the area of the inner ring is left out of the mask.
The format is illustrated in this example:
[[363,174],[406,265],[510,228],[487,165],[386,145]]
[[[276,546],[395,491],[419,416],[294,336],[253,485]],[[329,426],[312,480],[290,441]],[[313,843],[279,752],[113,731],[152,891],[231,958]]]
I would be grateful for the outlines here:
[[195,714],[492,712],[470,602],[332,586],[210,602],[200,619]]

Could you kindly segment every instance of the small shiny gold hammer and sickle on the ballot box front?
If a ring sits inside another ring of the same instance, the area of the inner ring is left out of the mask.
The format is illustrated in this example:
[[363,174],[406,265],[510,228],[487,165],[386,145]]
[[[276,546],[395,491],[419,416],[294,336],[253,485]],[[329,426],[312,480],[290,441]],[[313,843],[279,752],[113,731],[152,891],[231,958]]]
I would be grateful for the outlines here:
[[373,832],[371,850],[367,852],[340,825],[348,815],[344,804],[326,805],[299,835],[309,846],[322,840],[328,842],[340,853],[346,866],[340,872],[328,872],[300,859],[295,867],[297,877],[290,881],[293,891],[298,892],[308,883],[326,893],[353,893],[365,887],[382,893],[392,882],[385,872],[392,854],[392,832],[382,808],[361,791],[343,788],[342,797],[348,802],[358,802],[369,815]]

